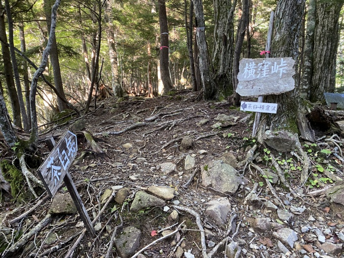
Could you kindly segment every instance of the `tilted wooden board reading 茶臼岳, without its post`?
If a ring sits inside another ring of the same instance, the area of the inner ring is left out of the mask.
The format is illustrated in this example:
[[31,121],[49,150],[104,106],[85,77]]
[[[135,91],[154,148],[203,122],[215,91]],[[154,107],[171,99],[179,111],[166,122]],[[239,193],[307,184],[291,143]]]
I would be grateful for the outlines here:
[[51,197],[55,196],[77,151],[77,136],[71,131],[67,131],[38,168],[38,175]]

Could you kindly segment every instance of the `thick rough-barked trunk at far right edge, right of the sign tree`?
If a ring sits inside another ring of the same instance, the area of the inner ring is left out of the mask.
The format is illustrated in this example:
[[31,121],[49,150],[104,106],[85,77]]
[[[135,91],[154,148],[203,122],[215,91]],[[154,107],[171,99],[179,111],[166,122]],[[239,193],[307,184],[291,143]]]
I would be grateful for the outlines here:
[[343,1],[317,1],[314,34],[314,62],[310,99],[322,101],[324,92],[334,92],[339,17]]

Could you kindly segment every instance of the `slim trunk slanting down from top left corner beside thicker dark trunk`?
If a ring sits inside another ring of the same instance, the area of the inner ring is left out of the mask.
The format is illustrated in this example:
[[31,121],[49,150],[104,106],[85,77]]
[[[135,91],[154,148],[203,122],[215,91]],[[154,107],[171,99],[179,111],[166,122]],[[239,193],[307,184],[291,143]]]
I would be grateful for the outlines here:
[[8,0],[5,0],[5,9],[6,9],[7,22],[8,22],[8,43],[9,43],[9,52],[10,52],[10,56],[11,56],[13,74],[14,74],[15,84],[16,84],[16,88],[17,88],[17,94],[18,94],[18,101],[19,101],[20,113],[21,113],[21,115],[22,115],[24,132],[29,133],[28,116],[27,116],[26,110],[25,110],[25,104],[24,104],[24,99],[23,99],[22,86],[21,86],[20,78],[19,78],[19,71],[18,71],[17,58],[16,58],[16,54],[15,54],[15,52],[14,52],[14,43],[13,43],[13,20],[12,20],[12,13],[11,13],[11,9],[10,9],[9,1],[8,1]]

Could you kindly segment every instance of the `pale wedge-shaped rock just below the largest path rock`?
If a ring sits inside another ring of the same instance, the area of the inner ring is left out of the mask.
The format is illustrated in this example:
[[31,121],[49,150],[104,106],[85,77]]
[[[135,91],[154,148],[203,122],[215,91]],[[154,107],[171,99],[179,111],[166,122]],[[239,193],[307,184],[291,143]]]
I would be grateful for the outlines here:
[[204,203],[205,214],[212,218],[216,224],[222,228],[226,228],[227,215],[230,211],[230,203],[226,198],[208,201]]

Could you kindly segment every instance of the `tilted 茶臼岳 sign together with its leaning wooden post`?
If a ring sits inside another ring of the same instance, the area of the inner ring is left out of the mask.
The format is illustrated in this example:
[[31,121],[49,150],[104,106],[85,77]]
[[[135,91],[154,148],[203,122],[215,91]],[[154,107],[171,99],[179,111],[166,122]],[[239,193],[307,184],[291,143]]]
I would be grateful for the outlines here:
[[38,168],[38,175],[51,197],[55,196],[58,188],[61,186],[62,180],[64,181],[86,229],[92,235],[95,235],[95,230],[88,217],[84,203],[81,201],[79,193],[68,172],[78,151],[77,136],[67,131],[57,144],[55,144],[53,138],[50,138],[49,142],[51,147],[55,147],[51,150],[48,158]]

